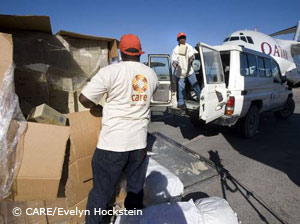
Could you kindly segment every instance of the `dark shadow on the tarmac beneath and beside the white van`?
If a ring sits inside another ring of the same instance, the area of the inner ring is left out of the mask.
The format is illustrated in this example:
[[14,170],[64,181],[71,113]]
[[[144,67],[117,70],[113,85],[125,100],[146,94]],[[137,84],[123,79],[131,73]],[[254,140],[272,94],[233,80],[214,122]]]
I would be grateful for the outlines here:
[[261,116],[260,128],[252,139],[244,139],[236,129],[208,124],[195,127],[188,117],[170,115],[152,116],[153,122],[164,122],[179,127],[184,138],[191,140],[199,135],[215,136],[220,133],[234,150],[251,159],[283,171],[300,186],[300,114],[288,120],[278,120],[273,113]]

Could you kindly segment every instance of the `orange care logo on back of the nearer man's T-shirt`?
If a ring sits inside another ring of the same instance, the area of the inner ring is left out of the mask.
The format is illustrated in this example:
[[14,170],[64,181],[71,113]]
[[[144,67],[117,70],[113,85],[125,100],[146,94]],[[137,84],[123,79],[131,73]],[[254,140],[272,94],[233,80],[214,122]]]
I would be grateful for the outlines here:
[[147,101],[148,95],[145,93],[148,89],[148,80],[144,75],[138,74],[132,79],[133,102]]

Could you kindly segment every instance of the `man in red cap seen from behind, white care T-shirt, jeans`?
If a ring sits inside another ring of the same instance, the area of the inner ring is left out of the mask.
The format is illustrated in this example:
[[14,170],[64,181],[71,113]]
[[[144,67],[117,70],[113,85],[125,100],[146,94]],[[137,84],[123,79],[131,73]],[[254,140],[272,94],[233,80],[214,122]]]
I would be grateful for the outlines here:
[[[100,69],[79,98],[91,112],[102,113],[103,109],[102,130],[92,159],[87,224],[101,223],[99,209],[107,208],[122,172],[127,179],[126,209],[142,208],[150,100],[158,80],[151,68],[140,63],[144,52],[137,36],[122,36],[120,51],[122,62]],[[98,102],[105,93],[102,108]]]

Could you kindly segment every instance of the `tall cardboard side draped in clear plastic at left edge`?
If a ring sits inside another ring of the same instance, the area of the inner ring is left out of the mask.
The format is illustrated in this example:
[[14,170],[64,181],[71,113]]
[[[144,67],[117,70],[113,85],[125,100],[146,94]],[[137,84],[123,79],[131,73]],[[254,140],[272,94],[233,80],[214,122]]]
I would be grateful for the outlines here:
[[9,194],[19,168],[20,151],[16,145],[25,131],[26,122],[22,116],[18,98],[14,92],[12,36],[0,34],[0,198]]

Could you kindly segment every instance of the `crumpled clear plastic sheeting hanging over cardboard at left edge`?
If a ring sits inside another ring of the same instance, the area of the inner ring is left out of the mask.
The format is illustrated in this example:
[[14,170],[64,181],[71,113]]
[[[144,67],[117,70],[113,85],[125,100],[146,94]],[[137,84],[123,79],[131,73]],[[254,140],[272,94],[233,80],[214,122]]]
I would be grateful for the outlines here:
[[0,86],[0,200],[9,196],[21,161],[17,143],[26,129],[14,87],[14,65],[5,72]]

